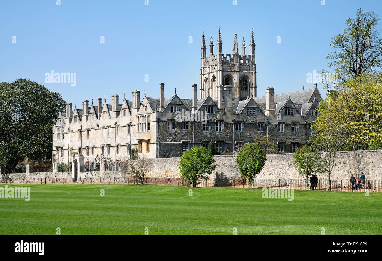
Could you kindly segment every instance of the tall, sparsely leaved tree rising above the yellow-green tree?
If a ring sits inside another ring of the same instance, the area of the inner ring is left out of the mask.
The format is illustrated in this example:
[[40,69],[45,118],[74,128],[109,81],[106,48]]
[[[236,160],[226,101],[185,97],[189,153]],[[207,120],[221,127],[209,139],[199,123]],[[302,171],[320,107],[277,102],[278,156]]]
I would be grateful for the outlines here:
[[342,79],[382,68],[378,15],[359,8],[355,18],[346,20],[346,26],[342,34],[332,38],[330,46],[335,51],[327,57],[332,60],[329,67],[334,67]]

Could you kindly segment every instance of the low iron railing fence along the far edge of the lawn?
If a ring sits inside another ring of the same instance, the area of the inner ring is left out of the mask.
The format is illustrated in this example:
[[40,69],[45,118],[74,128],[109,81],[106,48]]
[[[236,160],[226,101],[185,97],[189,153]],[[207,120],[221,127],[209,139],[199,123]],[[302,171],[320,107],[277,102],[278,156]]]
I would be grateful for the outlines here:
[[[0,180],[3,184],[140,184],[137,178],[129,177],[105,177],[105,178],[13,178],[3,176]],[[249,188],[249,184],[244,180],[228,181],[225,179],[206,179],[200,181],[198,188],[203,187],[228,187],[228,188]],[[169,186],[189,186],[188,181],[180,178],[145,178],[144,184],[147,185],[169,185]],[[318,190],[327,189],[327,180],[319,180],[317,183]],[[306,180],[304,179],[255,179],[252,188],[290,188],[290,189],[306,189]],[[308,184],[310,187],[310,184]],[[366,180],[363,188],[352,189],[350,181],[331,180],[330,191],[353,191],[353,192],[382,192],[382,181]]]

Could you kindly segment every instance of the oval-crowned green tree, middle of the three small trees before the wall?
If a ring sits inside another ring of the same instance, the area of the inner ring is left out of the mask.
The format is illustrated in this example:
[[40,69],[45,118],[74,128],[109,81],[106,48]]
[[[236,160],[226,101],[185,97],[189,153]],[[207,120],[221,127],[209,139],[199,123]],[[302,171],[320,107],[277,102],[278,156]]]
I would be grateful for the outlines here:
[[247,179],[249,188],[252,188],[255,176],[264,168],[265,161],[265,152],[256,143],[244,144],[239,149],[236,163],[241,175]]

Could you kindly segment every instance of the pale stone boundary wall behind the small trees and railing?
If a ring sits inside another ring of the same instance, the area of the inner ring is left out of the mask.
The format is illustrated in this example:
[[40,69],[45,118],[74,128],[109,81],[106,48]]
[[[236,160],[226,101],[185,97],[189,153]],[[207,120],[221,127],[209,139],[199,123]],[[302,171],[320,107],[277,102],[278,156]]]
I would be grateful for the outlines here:
[[[217,168],[210,176],[213,179],[228,179],[229,181],[242,181],[243,178],[236,166],[236,157],[232,155],[214,156]],[[152,158],[153,169],[149,178],[179,178],[179,158]],[[357,164],[356,162],[360,162]],[[357,165],[359,167],[357,167]],[[363,171],[368,180],[382,180],[382,150],[338,152],[337,164],[331,179],[350,179],[350,174],[356,175],[357,169]],[[71,178],[70,172],[47,172],[11,174],[14,178]],[[105,178],[121,177],[117,171],[80,172],[79,178]],[[326,179],[325,175],[318,174],[319,179]],[[264,169],[257,175],[262,179],[302,179],[293,166],[293,153],[269,154]]]

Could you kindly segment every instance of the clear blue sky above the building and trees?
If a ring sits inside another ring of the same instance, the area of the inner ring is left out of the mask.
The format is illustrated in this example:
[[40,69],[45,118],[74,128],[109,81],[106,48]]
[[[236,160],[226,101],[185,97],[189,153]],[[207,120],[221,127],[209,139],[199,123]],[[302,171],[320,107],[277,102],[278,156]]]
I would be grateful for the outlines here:
[[[357,8],[382,15],[380,0],[56,0],[0,3],[0,82],[29,78],[62,94],[71,103],[146,90],[165,97],[176,88],[191,98],[191,85],[200,85],[202,31],[213,34],[215,53],[218,26],[223,53],[231,54],[235,32],[246,39],[253,27],[256,43],[257,96],[266,87],[276,93],[301,90],[306,74],[328,70],[326,59],[332,36],[342,33]],[[16,44],[12,43],[16,36]],[[100,37],[105,43],[100,43]],[[193,43],[189,43],[189,36]],[[281,37],[281,44],[277,43]],[[45,73],[75,72],[77,85],[45,83]],[[329,69],[330,72],[333,69]],[[144,76],[149,75],[149,82]],[[325,95],[322,85],[320,91]],[[142,97],[141,96],[141,97]],[[81,105],[79,105],[79,108]]]

